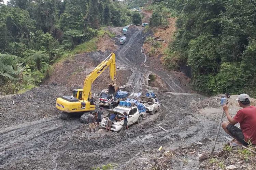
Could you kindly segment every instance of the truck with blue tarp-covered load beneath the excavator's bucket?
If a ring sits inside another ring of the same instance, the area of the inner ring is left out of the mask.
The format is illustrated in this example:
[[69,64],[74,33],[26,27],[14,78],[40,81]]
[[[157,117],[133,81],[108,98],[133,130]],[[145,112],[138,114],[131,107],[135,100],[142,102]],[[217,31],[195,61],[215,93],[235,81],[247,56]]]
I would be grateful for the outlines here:
[[115,90],[115,87],[109,85],[109,89],[103,89],[99,95],[99,105],[113,109],[120,101],[125,101],[128,97],[128,92]]

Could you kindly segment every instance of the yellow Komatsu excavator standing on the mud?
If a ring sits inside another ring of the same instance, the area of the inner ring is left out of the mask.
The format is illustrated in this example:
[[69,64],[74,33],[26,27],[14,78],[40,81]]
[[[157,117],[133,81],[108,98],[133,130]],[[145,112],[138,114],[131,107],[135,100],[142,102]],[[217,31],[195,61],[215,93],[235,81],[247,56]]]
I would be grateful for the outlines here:
[[116,75],[115,54],[111,53],[104,61],[102,61],[93,71],[87,75],[84,80],[83,89],[74,89],[72,96],[62,96],[56,100],[56,108],[62,113],[61,119],[68,119],[74,113],[83,114],[80,121],[87,123],[89,111],[95,110],[94,99],[91,93],[91,86],[95,79],[109,67],[110,78],[113,82]]

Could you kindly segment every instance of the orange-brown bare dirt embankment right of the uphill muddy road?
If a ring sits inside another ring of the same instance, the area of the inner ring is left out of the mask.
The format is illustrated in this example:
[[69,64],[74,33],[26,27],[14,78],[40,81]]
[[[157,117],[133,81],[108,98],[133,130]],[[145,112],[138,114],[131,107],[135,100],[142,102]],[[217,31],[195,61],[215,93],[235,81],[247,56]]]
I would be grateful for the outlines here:
[[157,39],[161,39],[166,42],[152,40],[150,42],[144,43],[144,45],[142,46],[143,53],[148,56],[144,62],[144,65],[146,65],[147,67],[154,68],[154,72],[157,74],[156,79],[154,81],[151,81],[150,85],[162,89],[162,91],[164,92],[168,91],[168,84],[167,82],[161,79],[162,76],[160,75],[161,72],[164,71],[167,74],[175,75],[174,77],[178,79],[179,82],[181,82],[184,89],[188,89],[186,91],[193,92],[193,90],[191,90],[191,86],[189,85],[191,81],[190,78],[188,78],[183,72],[180,71],[168,71],[169,69],[163,63],[165,50],[168,47],[169,43],[172,42],[173,34],[176,31],[176,18],[168,18],[168,21],[168,27],[153,29],[154,33],[152,35],[152,37],[157,37]]

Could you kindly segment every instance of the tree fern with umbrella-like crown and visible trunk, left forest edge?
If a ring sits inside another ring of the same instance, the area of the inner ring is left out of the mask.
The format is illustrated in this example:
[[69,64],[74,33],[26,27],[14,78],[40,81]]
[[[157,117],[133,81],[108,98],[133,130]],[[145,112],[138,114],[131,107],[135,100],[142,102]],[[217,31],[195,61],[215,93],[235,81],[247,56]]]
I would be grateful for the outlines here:
[[29,50],[28,53],[29,58],[35,61],[37,64],[37,69],[41,69],[41,62],[48,60],[49,56],[46,54],[46,51],[35,51],[35,50]]

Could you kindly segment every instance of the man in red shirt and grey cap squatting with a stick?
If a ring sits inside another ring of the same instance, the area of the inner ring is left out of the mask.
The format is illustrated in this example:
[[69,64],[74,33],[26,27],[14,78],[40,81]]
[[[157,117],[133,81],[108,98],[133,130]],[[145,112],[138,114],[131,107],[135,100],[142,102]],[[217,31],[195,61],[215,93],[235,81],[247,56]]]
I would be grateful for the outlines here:
[[[241,146],[252,143],[256,145],[256,107],[250,105],[250,97],[247,94],[241,94],[238,97],[238,104],[243,107],[232,118],[228,112],[228,106],[224,104],[223,110],[226,113],[228,122],[222,123],[222,128],[230,136],[236,139],[230,146]],[[240,123],[241,129],[234,126]]]

